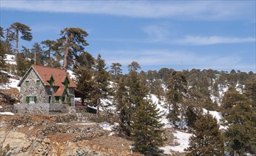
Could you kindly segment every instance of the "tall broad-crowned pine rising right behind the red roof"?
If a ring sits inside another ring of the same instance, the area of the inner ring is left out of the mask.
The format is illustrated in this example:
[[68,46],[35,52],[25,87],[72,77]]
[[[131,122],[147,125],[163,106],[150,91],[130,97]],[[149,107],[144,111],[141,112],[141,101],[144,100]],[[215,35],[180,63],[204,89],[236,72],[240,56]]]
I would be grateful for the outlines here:
[[76,64],[75,58],[83,52],[84,46],[88,45],[86,37],[88,33],[81,28],[64,28],[61,30],[62,37],[58,40],[63,45],[64,63],[63,69],[68,68],[68,62]]

